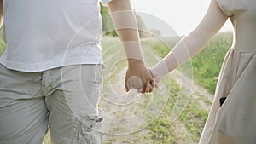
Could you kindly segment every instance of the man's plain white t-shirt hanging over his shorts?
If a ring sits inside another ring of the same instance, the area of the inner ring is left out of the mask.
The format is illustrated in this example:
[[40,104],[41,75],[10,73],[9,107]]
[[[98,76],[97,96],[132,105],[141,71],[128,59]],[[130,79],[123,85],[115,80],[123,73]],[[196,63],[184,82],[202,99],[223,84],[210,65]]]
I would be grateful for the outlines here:
[[[111,0],[102,0],[103,4]],[[102,64],[98,0],[4,0],[0,63],[22,72]]]

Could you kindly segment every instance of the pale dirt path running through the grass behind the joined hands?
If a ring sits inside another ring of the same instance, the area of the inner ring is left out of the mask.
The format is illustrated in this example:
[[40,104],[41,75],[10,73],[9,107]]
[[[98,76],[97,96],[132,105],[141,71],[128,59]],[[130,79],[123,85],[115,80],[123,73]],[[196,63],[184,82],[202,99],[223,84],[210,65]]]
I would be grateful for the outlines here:
[[[156,61],[160,60],[152,49],[148,49],[146,53],[145,61],[152,60],[152,57],[154,57]],[[138,127],[143,124],[140,118],[136,118],[137,113],[148,108],[150,101],[152,101],[152,96],[137,95],[134,91],[130,94],[125,93],[125,66],[124,62],[122,62],[123,60],[119,59],[118,56],[119,51],[116,50],[114,55],[105,57],[105,60],[107,59],[106,65],[108,68],[105,70],[104,74],[106,79],[104,83],[104,94],[99,103],[99,107],[104,111],[105,124],[103,124],[103,126],[107,133],[107,135],[104,136],[104,144],[153,144],[155,141],[150,138],[152,132],[147,129],[147,124],[145,124],[145,127],[139,129],[133,128],[136,127],[136,124]],[[184,76],[177,70],[171,72],[170,76],[179,85],[191,86],[192,79]],[[195,83],[188,89],[191,89],[192,101],[198,101],[201,107],[207,110],[210,109],[213,95],[207,92],[207,89]],[[131,119],[127,120],[127,118]],[[175,128],[173,133],[176,135],[175,137],[177,138],[178,144],[193,143],[188,136],[191,134],[186,130],[183,122],[177,119],[173,122],[173,126]]]

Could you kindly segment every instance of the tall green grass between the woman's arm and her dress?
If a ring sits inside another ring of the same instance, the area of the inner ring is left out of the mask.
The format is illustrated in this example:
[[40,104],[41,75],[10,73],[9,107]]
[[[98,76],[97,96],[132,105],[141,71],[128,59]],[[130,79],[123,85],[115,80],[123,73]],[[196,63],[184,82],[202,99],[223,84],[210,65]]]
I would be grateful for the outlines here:
[[207,44],[206,49],[192,59],[194,80],[214,93],[224,55],[232,44],[231,33],[220,33]]

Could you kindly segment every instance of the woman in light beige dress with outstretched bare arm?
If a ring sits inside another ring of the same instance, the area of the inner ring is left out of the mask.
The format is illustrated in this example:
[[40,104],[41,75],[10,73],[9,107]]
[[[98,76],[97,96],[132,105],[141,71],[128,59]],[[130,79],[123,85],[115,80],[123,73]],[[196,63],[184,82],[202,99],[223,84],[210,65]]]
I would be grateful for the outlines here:
[[228,19],[234,26],[234,43],[219,74],[201,144],[256,143],[256,2],[212,0],[199,26],[151,68],[160,81],[167,72],[198,54]]

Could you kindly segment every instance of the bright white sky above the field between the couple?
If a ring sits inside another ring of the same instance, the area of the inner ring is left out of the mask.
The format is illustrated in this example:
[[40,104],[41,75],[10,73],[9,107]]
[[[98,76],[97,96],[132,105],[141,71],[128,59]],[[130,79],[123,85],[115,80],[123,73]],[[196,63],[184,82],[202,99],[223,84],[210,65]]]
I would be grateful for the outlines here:
[[[138,15],[148,17],[145,20],[148,29],[161,29],[162,35],[172,35],[173,32],[186,35],[207,12],[210,0],[131,0],[131,3]],[[220,32],[227,31],[232,31],[229,20]]]

